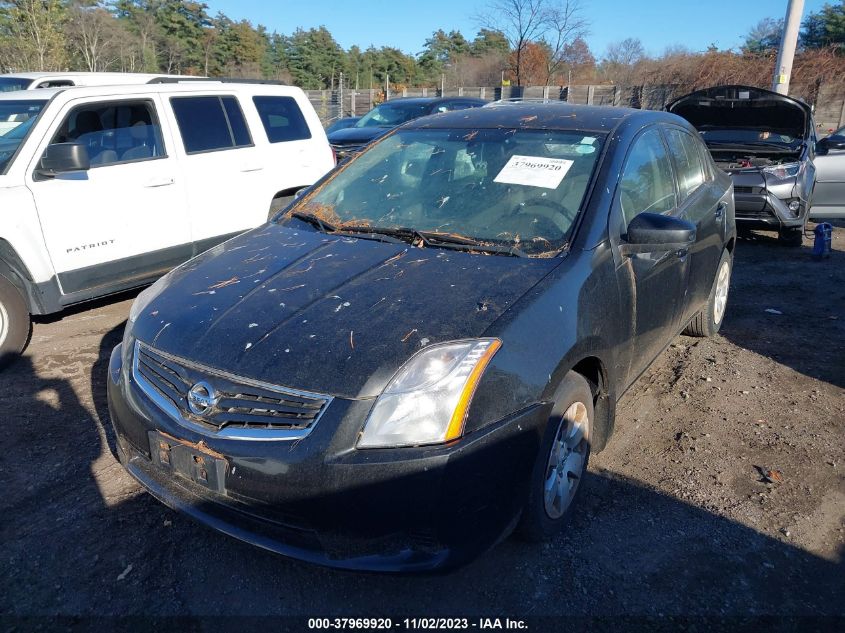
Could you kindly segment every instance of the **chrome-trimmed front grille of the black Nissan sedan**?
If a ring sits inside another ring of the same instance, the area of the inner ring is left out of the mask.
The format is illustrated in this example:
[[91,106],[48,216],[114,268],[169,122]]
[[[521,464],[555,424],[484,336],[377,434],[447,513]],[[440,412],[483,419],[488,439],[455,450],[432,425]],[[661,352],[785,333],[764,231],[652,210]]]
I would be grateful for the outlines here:
[[[300,439],[330,396],[234,376],[135,343],[133,374],[141,389],[177,422],[220,437]],[[202,386],[209,406],[197,410],[189,393]]]

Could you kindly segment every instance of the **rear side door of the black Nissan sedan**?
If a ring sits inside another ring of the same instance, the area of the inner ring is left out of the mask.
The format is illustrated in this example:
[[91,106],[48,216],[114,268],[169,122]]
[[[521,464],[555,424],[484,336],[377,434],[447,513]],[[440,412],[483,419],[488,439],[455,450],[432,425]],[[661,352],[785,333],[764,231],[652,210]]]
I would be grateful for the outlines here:
[[[677,215],[695,224],[696,242],[689,254],[689,284],[681,320],[686,322],[710,296],[722,257],[727,202],[702,161],[701,142],[680,127],[665,126],[664,134],[678,181]],[[706,148],[705,148],[706,149]]]

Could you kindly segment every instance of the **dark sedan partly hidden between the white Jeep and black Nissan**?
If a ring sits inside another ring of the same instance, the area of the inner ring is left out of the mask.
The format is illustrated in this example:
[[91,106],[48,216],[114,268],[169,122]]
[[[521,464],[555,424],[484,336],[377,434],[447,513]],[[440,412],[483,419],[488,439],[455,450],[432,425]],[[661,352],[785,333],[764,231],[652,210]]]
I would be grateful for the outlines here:
[[328,131],[329,143],[337,159],[349,158],[380,136],[384,136],[395,127],[429,114],[480,108],[487,101],[472,97],[409,97],[391,99],[377,105],[362,116],[354,125]]

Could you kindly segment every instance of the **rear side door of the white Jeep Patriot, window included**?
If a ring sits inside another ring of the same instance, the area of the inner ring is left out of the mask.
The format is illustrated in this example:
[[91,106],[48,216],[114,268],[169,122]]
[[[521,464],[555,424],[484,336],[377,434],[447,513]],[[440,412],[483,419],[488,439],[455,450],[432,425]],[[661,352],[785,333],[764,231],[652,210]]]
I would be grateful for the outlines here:
[[198,250],[260,225],[271,195],[265,169],[234,94],[178,94],[167,98],[179,130],[177,152],[188,192],[191,235]]

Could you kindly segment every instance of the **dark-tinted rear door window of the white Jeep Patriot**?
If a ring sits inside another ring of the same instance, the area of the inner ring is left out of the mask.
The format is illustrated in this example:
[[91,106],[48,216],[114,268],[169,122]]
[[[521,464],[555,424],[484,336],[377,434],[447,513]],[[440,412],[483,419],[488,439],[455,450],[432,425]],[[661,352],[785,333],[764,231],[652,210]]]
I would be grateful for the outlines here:
[[170,105],[188,154],[252,145],[241,106],[235,97],[172,97]]

